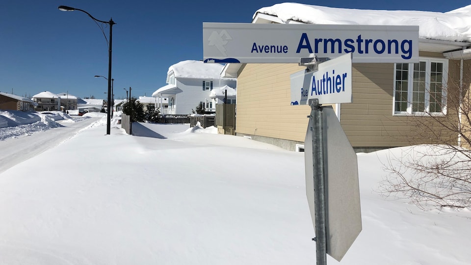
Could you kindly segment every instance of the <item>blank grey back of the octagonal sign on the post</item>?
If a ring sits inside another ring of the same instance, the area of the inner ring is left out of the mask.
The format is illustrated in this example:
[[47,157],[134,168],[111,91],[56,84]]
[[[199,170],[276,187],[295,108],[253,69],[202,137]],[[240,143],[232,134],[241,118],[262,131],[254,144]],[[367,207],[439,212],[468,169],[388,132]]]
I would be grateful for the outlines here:
[[[357,155],[332,106],[322,106],[325,233],[327,254],[340,261],[362,231]],[[306,196],[315,229],[313,136],[311,117],[304,143]],[[314,152],[315,154],[315,152]],[[320,235],[316,235],[320,237]]]

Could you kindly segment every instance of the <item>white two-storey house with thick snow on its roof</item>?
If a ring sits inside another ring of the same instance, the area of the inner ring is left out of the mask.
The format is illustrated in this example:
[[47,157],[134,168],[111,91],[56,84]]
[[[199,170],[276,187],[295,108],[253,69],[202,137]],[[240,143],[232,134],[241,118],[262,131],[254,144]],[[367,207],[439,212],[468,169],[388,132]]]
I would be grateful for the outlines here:
[[[188,115],[192,109],[202,103],[205,108],[215,107],[215,98],[211,98],[213,89],[224,86],[236,87],[235,78],[221,78],[224,65],[202,61],[186,60],[168,68],[167,85],[160,87],[152,96],[157,100],[162,115]],[[164,99],[168,98],[168,107]],[[232,99],[231,99],[232,100]]]

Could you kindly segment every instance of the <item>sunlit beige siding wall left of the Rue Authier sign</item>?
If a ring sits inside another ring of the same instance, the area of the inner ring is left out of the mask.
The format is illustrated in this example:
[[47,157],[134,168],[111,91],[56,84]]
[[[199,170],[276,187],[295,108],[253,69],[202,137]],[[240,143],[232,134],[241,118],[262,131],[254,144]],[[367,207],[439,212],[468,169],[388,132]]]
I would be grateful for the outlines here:
[[237,77],[236,132],[304,142],[309,106],[290,106],[297,64],[247,64]]

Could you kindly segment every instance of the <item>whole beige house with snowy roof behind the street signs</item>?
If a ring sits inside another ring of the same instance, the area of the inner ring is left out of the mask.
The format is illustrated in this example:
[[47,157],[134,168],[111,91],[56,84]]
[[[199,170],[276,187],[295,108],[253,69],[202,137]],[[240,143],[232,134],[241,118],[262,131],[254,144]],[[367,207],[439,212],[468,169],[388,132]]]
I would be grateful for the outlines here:
[[[318,24],[322,24],[329,23],[325,16],[335,18],[344,12],[341,8],[283,3],[258,10],[253,23],[317,24],[318,18]],[[388,13],[391,11],[374,12],[394,19]],[[471,50],[466,49],[471,47],[471,39],[466,34],[458,41],[423,36],[428,25],[420,24],[425,21],[421,20],[422,13],[410,13],[411,20],[418,16],[420,26],[419,63],[353,64],[353,103],[333,107],[356,151],[443,141],[460,144],[459,135],[448,129],[464,125],[458,108],[462,103],[460,99],[470,88],[471,53],[466,52]],[[426,13],[432,17],[435,14],[441,18],[447,16],[446,13]],[[371,12],[368,15],[371,16]],[[460,12],[453,15],[470,18]],[[355,17],[352,15],[349,19]],[[379,20],[371,21],[378,23]],[[334,19],[330,23],[337,24]],[[226,65],[223,74],[237,78],[236,135],[250,136],[293,151],[296,146],[302,146],[311,109],[290,106],[290,74],[302,69],[305,67],[298,64]]]

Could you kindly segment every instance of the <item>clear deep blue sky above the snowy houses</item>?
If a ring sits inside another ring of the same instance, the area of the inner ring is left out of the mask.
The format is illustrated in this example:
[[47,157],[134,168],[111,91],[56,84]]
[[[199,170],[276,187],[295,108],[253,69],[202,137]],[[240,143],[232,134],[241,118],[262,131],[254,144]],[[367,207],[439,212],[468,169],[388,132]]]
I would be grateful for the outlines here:
[[[108,50],[100,28],[83,9],[113,26],[115,98],[151,96],[165,85],[169,66],[203,59],[203,22],[250,23],[275,0],[1,0],[0,91],[33,96],[42,91],[106,98]],[[469,0],[330,0],[300,3],[341,8],[446,12]],[[108,37],[108,27],[105,35]]]

